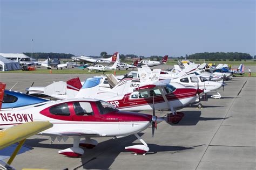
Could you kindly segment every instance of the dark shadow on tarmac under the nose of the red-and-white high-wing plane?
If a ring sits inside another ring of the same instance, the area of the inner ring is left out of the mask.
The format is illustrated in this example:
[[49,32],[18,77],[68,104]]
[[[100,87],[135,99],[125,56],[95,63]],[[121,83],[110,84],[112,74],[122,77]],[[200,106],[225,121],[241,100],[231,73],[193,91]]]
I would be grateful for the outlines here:
[[194,126],[199,121],[215,121],[223,120],[230,117],[201,117],[201,111],[183,111],[184,117],[178,124],[172,124],[173,126]]

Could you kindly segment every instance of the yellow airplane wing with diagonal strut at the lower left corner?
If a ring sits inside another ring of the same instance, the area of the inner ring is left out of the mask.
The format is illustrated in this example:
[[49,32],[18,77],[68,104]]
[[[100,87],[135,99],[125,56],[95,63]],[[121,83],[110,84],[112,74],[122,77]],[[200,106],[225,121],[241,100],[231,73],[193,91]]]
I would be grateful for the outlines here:
[[[7,164],[0,161],[0,169],[8,169],[10,167],[11,162],[16,157],[19,149],[24,144],[26,138],[33,136],[39,132],[42,132],[46,129],[51,128],[53,125],[50,122],[28,122],[19,124],[17,126],[12,126],[11,128],[0,130],[0,150],[3,148],[10,146],[15,143],[19,143],[16,147],[14,153],[12,153],[10,159]],[[2,164],[1,164],[2,163]]]

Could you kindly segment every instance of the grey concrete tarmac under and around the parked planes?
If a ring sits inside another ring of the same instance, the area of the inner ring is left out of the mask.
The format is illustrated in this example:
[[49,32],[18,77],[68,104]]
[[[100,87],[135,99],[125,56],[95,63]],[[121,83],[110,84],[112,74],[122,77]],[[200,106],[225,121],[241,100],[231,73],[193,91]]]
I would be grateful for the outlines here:
[[[80,80],[92,75],[79,76]],[[25,91],[34,86],[46,86],[52,81],[69,80],[69,74],[0,74],[7,89]],[[72,147],[49,137],[33,136],[26,145],[33,149],[17,155],[12,166],[50,169],[255,169],[256,167],[256,110],[255,77],[234,77],[227,81],[223,98],[203,101],[181,109],[185,117],[176,125],[158,124],[152,138],[151,128],[139,133],[150,147],[146,155],[133,155],[124,147],[140,144],[134,136],[120,139],[95,138],[99,144],[81,158],[68,158],[59,150]],[[150,111],[144,111],[151,114]],[[167,112],[165,112],[167,113]],[[160,112],[157,111],[158,116]],[[7,161],[7,159],[5,160]]]

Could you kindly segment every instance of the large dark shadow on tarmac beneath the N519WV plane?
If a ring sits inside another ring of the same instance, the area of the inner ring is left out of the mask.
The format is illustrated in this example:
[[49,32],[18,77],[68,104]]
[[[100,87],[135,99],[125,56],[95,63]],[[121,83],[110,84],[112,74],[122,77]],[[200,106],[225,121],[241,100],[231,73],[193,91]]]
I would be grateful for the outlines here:
[[[141,137],[143,136],[144,133],[138,133],[138,134]],[[125,146],[141,144],[141,143],[133,143],[133,141],[135,140],[137,140],[137,138],[131,135],[125,138],[103,141],[102,143],[99,143],[98,146],[96,146],[95,148],[91,150],[85,150],[84,155],[81,157],[82,165],[75,167],[74,169],[81,169],[81,168],[109,169],[110,166],[113,164],[114,160],[118,157],[120,153],[125,152],[129,154],[129,151],[125,150]],[[147,152],[147,154],[155,154],[158,152],[170,152],[170,151],[176,151],[174,153],[177,153],[179,151],[192,150],[194,149],[194,147],[203,146],[203,145],[198,145],[198,146],[192,146],[192,147],[183,147],[183,146],[161,146],[157,144],[147,144],[147,145],[150,147],[150,151]]]

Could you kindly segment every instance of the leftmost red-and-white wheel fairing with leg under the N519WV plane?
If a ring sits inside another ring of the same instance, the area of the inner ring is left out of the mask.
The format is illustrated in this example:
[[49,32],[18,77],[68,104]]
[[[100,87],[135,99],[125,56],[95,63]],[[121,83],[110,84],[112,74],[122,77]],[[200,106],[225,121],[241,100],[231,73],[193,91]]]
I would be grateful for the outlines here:
[[84,150],[79,147],[80,138],[73,137],[73,147],[66,148],[65,150],[59,151],[59,154],[66,155],[68,157],[80,157],[84,154]]

